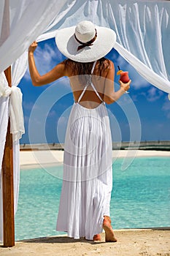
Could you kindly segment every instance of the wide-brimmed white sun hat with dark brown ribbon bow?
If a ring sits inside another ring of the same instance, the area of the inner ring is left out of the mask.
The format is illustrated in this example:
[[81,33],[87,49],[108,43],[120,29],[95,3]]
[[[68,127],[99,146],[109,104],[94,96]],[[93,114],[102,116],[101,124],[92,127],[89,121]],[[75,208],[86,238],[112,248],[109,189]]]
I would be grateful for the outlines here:
[[92,62],[112,50],[116,34],[112,29],[83,20],[77,26],[58,30],[55,42],[61,53],[72,61]]

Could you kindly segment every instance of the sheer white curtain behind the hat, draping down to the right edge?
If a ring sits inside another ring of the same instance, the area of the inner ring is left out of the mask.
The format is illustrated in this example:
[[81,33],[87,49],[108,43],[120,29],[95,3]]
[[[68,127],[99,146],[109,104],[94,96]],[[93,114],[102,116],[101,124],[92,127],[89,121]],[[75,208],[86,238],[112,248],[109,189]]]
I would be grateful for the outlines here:
[[85,19],[114,29],[118,53],[149,83],[170,93],[170,1],[72,1],[38,41]]

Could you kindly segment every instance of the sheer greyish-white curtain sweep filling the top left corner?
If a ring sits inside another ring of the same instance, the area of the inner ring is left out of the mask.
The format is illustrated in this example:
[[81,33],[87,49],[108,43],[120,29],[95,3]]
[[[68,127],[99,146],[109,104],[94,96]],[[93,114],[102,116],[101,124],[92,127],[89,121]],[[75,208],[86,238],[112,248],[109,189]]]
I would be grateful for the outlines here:
[[[66,3],[66,0],[43,0],[41,3],[35,0],[8,1],[10,31],[0,47],[0,73],[18,59],[31,42],[50,26],[63,4]],[[0,2],[0,10],[4,10],[4,1]],[[3,20],[0,19],[0,22],[1,28]]]

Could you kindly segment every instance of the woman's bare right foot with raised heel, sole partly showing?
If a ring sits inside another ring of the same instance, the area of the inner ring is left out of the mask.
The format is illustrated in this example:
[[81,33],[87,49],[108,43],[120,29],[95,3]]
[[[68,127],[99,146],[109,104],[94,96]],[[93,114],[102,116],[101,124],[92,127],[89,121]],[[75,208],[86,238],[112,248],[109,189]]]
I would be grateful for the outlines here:
[[103,228],[105,231],[105,241],[106,242],[117,242],[113,229],[111,226],[111,219],[108,216],[104,216]]

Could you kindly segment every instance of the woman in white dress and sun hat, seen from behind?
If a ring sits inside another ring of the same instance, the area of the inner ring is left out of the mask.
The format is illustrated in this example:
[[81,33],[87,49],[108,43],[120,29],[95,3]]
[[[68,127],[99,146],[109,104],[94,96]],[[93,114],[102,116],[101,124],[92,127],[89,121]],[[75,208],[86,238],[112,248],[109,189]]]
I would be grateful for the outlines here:
[[34,62],[36,42],[28,49],[28,63],[34,86],[69,77],[74,105],[66,130],[63,157],[63,186],[56,230],[69,237],[117,241],[109,217],[112,191],[112,137],[107,104],[119,99],[130,87],[120,82],[114,90],[115,69],[104,56],[113,48],[112,29],[84,20],[76,27],[61,29],[55,37],[58,49],[68,59],[45,75]]

